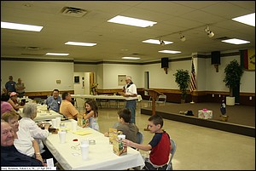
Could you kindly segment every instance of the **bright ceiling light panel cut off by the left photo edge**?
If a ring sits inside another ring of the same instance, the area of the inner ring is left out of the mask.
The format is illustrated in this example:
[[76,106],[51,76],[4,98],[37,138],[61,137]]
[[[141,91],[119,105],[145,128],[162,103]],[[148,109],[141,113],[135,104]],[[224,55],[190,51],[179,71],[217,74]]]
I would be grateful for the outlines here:
[[20,31],[41,31],[43,29],[43,26],[32,26],[1,21],[1,28],[14,29]]

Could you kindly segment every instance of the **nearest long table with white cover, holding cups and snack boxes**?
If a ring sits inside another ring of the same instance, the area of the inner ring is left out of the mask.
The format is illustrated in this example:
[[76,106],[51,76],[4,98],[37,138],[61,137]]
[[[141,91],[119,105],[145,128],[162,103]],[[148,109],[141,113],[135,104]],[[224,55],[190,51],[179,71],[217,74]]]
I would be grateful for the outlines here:
[[[71,121],[72,119],[61,121],[67,127],[66,143],[60,144],[58,134],[49,134],[49,137],[44,140],[44,145],[48,147],[49,151],[65,170],[122,170],[144,166],[143,157],[139,151],[128,147],[126,155],[117,156],[113,153],[113,145],[109,144],[108,137],[92,128],[78,127],[78,130],[84,130],[91,134],[73,134]],[[73,148],[73,146],[79,147],[81,140],[96,140],[96,145],[89,146],[87,160],[82,159],[79,148]]]

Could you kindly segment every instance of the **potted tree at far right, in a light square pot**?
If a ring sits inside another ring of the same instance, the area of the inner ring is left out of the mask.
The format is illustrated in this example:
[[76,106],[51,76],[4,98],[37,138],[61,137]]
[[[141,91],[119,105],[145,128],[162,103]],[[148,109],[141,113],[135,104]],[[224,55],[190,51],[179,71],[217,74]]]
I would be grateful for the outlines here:
[[230,88],[230,97],[226,97],[226,105],[235,105],[235,97],[233,97],[233,88],[236,88],[240,83],[243,71],[237,60],[230,61],[224,69],[224,83]]

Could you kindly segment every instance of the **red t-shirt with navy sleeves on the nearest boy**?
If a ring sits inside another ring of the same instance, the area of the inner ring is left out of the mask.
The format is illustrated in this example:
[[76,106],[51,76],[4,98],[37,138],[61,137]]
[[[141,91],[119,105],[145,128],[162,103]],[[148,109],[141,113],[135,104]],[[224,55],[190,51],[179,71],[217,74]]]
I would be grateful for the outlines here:
[[165,131],[155,133],[153,139],[148,143],[152,146],[149,154],[149,160],[154,165],[164,165],[169,161],[171,151],[170,136]]

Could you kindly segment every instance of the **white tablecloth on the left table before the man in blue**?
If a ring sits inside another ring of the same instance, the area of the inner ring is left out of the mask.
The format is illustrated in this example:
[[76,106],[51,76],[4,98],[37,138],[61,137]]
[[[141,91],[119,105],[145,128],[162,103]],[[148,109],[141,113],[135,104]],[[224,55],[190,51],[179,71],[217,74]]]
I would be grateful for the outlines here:
[[[47,105],[38,104],[37,109],[38,109],[37,117],[33,119],[33,121],[35,122],[51,120],[51,119],[55,119],[55,117],[61,117],[61,118],[63,117],[63,115],[61,115],[60,113],[57,113],[56,111],[52,111],[52,110],[47,111]],[[23,111],[23,108],[20,108],[18,111],[21,117],[22,117],[22,111]]]

